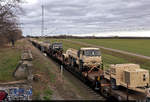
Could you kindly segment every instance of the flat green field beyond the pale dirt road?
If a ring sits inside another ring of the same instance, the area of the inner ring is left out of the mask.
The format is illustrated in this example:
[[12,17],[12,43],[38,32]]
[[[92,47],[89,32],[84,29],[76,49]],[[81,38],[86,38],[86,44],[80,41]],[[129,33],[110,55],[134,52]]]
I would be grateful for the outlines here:
[[148,39],[70,39],[88,44],[100,45],[150,56],[150,40]]

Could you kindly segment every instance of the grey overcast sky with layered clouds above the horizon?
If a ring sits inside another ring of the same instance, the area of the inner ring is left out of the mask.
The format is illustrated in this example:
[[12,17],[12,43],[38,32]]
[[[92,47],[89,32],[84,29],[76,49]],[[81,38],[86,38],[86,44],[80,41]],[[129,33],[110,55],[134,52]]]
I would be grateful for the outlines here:
[[24,35],[150,36],[150,0],[26,0],[20,23]]

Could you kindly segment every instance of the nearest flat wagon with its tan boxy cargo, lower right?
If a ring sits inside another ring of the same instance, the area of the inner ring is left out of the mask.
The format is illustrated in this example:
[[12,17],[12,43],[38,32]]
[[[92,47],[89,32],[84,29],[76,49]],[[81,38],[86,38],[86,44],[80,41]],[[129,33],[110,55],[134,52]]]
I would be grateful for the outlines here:
[[118,100],[144,100],[149,95],[149,71],[138,64],[112,64],[104,79],[110,84],[107,93]]

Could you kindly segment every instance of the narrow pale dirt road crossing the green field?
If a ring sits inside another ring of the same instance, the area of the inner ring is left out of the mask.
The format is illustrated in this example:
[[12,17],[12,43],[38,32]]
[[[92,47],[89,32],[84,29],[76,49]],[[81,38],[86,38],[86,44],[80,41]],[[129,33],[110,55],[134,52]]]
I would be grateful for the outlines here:
[[112,51],[112,52],[117,52],[117,53],[129,55],[129,56],[135,56],[135,57],[139,57],[139,58],[142,58],[142,59],[150,60],[149,56],[135,54],[135,53],[127,52],[127,51],[122,51],[122,50],[117,50],[117,49],[112,49],[112,48],[106,48],[106,47],[103,47],[103,46],[97,46],[97,45],[93,45],[93,44],[87,44],[87,43],[79,42],[79,41],[72,41],[72,40],[66,40],[66,39],[65,39],[65,41],[69,41],[69,42],[76,43],[76,44],[82,44],[82,45],[86,45],[86,46],[98,47],[98,48],[101,48],[101,49],[104,49],[104,50],[108,50],[108,51]]

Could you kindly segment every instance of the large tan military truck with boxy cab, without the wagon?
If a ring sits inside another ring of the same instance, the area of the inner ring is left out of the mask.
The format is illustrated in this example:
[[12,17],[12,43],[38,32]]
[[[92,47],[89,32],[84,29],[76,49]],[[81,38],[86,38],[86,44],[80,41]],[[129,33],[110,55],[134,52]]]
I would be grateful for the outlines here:
[[99,48],[68,49],[64,54],[71,66],[78,66],[81,72],[102,68],[102,58]]

